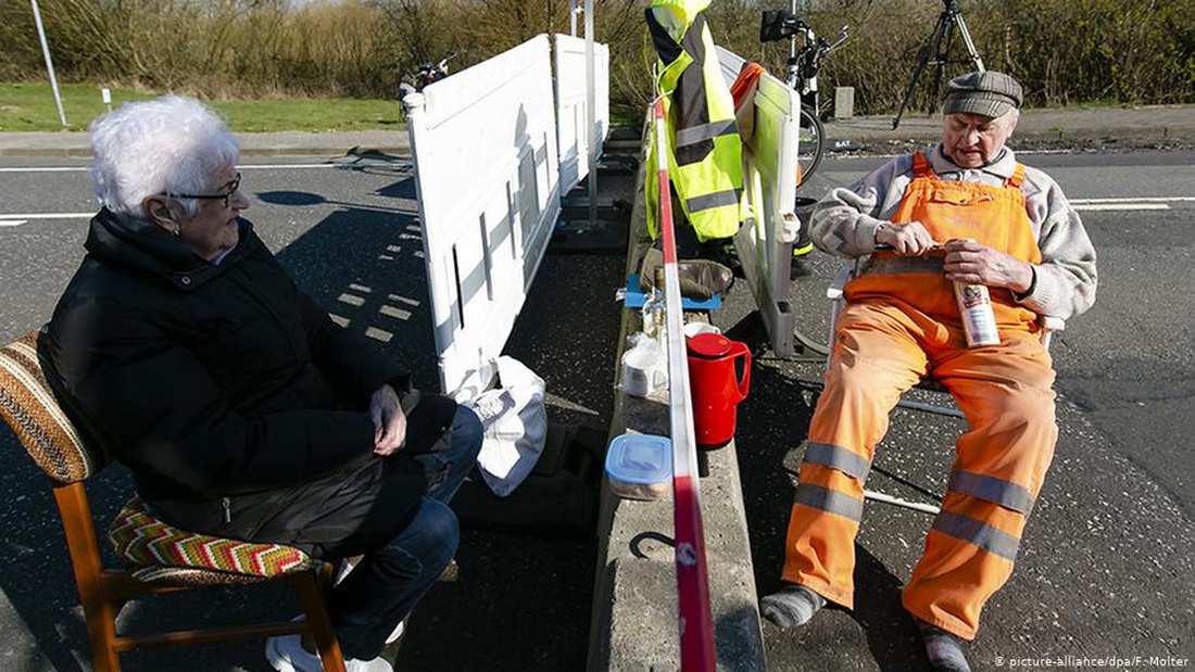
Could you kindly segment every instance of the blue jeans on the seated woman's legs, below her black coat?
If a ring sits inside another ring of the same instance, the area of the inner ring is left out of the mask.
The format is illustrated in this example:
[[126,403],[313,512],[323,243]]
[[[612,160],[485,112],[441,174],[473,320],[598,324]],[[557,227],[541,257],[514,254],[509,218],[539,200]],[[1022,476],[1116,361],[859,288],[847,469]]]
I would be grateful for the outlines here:
[[386,637],[452,561],[460,528],[447,503],[477,463],[482,433],[477,415],[458,407],[449,448],[415,457],[423,463],[428,491],[411,522],[366,554],[332,591],[332,623],[345,658],[378,658]]

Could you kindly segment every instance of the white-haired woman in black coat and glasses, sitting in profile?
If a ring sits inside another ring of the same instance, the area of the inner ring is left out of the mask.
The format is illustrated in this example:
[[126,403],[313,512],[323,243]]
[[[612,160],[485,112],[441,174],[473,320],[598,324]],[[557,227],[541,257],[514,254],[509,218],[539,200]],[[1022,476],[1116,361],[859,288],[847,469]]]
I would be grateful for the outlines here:
[[[295,286],[240,216],[237,141],[212,110],[165,95],[91,130],[102,209],[38,343],[55,395],[163,519],[363,554],[332,621],[349,670],[390,671],[384,646],[455,553],[446,503],[480,423]],[[266,642],[287,672],[321,670],[313,651]]]

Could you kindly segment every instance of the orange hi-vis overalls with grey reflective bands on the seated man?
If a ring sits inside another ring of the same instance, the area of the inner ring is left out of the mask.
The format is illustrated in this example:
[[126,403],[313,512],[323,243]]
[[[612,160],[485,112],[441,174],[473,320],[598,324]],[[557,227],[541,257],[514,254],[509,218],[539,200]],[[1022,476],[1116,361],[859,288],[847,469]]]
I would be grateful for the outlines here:
[[[1025,214],[1024,166],[1003,186],[939,180],[921,153],[894,222],[937,241],[974,239],[1040,263]],[[826,389],[789,520],[783,578],[853,606],[854,537],[876,443],[900,395],[925,375],[967,417],[925,553],[903,591],[918,618],[970,640],[1012,572],[1025,518],[1054,455],[1054,371],[1035,315],[992,288],[1000,344],[968,349],[943,258],[881,252],[846,285]]]

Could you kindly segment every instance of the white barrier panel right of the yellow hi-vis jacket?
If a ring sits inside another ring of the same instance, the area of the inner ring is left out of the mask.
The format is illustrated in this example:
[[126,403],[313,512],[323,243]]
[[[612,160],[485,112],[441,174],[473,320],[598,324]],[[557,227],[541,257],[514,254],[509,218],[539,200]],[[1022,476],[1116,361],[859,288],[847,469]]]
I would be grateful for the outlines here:
[[[722,75],[729,86],[739,78],[743,58],[718,48]],[[743,143],[743,189],[752,217],[735,235],[735,248],[747,283],[755,295],[772,350],[792,355],[792,242],[799,221],[797,197],[797,140],[801,97],[782,80],[764,74],[755,91],[755,130]]]

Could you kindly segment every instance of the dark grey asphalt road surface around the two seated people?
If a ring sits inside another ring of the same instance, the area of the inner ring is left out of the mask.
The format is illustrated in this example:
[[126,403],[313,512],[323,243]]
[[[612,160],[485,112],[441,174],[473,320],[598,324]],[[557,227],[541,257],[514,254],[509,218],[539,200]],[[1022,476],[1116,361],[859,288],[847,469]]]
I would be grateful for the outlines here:
[[[1096,307],[1072,320],[1053,349],[1061,439],[1009,587],[985,612],[976,670],[1040,658],[1150,656],[1195,662],[1195,338],[1191,239],[1195,153],[1042,154],[1083,208],[1099,253]],[[805,193],[817,197],[880,159],[828,160]],[[422,284],[415,190],[406,162],[385,155],[241,166],[246,216],[296,282],[350,328],[372,329],[425,387],[435,363]],[[44,322],[81,258],[94,208],[78,161],[0,162],[0,338]],[[612,407],[620,255],[550,255],[508,350],[547,380],[554,419],[605,427]],[[803,331],[825,338],[828,278],[815,258],[795,283]],[[362,292],[361,288],[369,291]],[[715,320],[744,334],[749,297],[736,288]],[[381,313],[397,296],[410,310]],[[750,338],[750,337],[746,337]],[[758,353],[753,394],[740,411],[739,455],[756,584],[776,586],[789,482],[816,400],[815,364]],[[961,423],[897,411],[869,486],[932,499],[940,492]],[[87,671],[78,596],[56,511],[41,474],[0,431],[0,668]],[[905,481],[905,482],[901,482]],[[109,469],[92,488],[105,519],[130,486]],[[770,668],[921,670],[899,587],[920,551],[929,517],[871,505],[859,537],[857,611],[829,611],[798,633],[765,625]],[[461,579],[441,584],[417,610],[396,667],[407,671],[580,672],[590,612],[594,545],[471,530]],[[286,616],[283,592],[217,591],[128,610],[130,624],[179,612],[213,618]],[[173,598],[172,598],[173,599]],[[1025,660],[1029,659],[1029,660]],[[264,671],[259,645],[131,653],[125,670]],[[1038,662],[1044,665],[1044,662]],[[1132,664],[1111,666],[1126,668]]]

